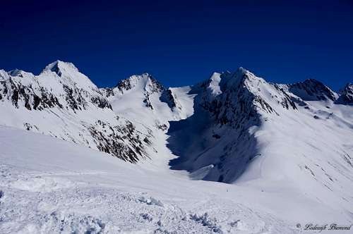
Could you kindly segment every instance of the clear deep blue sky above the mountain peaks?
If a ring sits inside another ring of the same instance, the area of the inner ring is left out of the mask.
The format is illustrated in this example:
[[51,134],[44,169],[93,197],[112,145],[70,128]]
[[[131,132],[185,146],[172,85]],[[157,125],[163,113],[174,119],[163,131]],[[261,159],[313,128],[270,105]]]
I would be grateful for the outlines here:
[[99,87],[191,85],[243,66],[272,82],[353,81],[353,1],[1,1],[0,68],[60,59]]

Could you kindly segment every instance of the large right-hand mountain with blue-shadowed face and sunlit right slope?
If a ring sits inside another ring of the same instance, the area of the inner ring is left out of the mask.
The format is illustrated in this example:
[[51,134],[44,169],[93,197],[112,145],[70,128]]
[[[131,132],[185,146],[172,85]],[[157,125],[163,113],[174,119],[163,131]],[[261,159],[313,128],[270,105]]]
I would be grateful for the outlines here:
[[169,148],[179,156],[172,168],[352,204],[353,109],[336,101],[347,92],[339,96],[317,80],[277,85],[239,68],[213,74],[191,93],[195,113],[169,128]]

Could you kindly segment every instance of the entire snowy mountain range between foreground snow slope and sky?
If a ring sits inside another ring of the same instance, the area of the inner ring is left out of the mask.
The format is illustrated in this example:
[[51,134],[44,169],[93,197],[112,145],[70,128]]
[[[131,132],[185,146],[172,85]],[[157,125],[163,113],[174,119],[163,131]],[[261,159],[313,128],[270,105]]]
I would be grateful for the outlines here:
[[62,61],[40,75],[0,70],[0,125],[163,176],[172,169],[193,180],[299,194],[303,204],[338,209],[343,221],[353,214],[352,104],[352,84],[339,93],[313,79],[275,84],[244,68],[169,88],[149,74],[97,88]]

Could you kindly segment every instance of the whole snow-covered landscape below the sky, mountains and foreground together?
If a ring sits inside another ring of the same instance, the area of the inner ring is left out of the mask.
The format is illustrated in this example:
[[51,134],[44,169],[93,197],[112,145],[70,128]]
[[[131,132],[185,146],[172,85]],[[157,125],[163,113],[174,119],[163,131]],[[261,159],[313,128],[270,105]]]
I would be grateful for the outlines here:
[[1,233],[350,226],[352,90],[244,68],[188,87],[143,74],[104,89],[72,63],[1,70]]

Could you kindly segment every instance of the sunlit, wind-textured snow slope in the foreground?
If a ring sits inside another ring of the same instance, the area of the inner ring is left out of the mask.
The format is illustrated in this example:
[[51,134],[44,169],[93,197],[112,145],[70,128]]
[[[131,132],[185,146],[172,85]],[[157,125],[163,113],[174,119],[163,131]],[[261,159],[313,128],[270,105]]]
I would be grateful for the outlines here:
[[299,233],[352,214],[266,185],[146,171],[64,140],[0,127],[1,233]]

